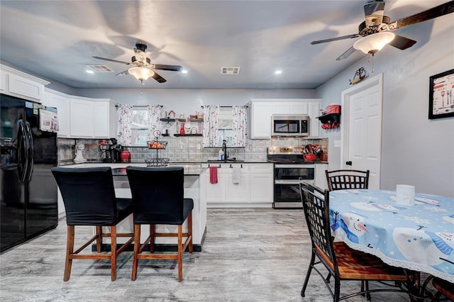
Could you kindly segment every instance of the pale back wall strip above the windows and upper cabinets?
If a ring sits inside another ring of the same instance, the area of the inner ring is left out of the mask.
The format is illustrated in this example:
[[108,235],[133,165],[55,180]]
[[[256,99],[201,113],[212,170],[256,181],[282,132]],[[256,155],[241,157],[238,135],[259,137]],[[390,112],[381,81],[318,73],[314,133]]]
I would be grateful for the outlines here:
[[[153,79],[152,79],[153,80]],[[77,89],[77,96],[111,99],[117,104],[159,104],[186,116],[203,105],[243,106],[249,99],[312,99],[313,89]]]

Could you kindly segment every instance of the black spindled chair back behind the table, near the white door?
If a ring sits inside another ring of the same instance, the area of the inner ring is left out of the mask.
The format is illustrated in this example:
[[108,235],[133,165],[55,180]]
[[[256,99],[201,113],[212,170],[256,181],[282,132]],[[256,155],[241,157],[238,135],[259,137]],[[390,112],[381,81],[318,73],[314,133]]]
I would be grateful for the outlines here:
[[329,191],[369,189],[369,170],[325,170],[325,173]]

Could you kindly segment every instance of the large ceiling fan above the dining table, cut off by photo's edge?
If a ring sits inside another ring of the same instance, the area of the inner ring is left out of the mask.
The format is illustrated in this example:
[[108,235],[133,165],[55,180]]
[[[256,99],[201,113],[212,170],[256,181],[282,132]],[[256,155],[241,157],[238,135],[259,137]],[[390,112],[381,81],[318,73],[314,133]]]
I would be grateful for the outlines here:
[[432,9],[428,9],[405,18],[400,18],[393,22],[389,22],[391,19],[388,16],[384,16],[384,1],[381,0],[365,4],[364,13],[365,21],[362,21],[362,23],[358,26],[357,34],[343,35],[341,37],[325,40],[316,40],[312,41],[311,44],[315,45],[331,41],[362,37],[336,60],[345,59],[355,52],[355,50],[361,50],[362,52],[374,55],[375,52],[381,50],[382,47],[387,44],[397,47],[399,50],[405,50],[406,48],[413,46],[416,41],[402,35],[392,33],[392,31],[437,18],[439,16],[444,16],[448,13],[454,13],[454,1],[448,1],[444,4],[433,7]]

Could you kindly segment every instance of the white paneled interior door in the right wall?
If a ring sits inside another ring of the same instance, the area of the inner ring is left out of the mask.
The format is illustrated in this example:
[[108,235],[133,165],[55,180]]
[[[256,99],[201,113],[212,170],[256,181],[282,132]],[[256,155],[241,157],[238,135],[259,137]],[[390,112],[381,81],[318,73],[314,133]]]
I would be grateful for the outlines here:
[[370,170],[370,189],[380,189],[382,78],[379,74],[342,93],[341,167]]

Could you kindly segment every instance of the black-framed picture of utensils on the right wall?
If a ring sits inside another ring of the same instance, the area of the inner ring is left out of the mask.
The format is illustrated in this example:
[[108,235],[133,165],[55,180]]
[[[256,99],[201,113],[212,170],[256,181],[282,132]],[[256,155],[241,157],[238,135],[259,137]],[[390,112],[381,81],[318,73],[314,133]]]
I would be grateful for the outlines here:
[[428,118],[454,116],[454,69],[430,77]]

